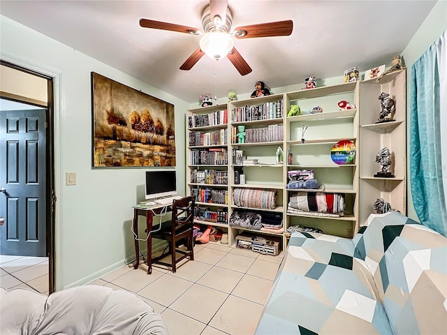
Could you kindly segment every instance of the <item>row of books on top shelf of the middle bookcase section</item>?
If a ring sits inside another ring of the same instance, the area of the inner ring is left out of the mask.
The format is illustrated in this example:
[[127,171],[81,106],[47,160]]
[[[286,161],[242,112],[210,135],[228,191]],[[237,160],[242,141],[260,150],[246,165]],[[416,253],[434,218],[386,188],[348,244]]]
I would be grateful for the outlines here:
[[284,116],[284,101],[278,100],[257,106],[237,107],[231,110],[231,122],[278,119]]

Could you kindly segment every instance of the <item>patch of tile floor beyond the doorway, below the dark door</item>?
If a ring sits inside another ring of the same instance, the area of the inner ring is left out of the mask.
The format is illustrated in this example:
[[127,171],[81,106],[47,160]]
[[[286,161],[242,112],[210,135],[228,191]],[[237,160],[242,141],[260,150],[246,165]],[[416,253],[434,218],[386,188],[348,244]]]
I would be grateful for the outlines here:
[[48,294],[48,258],[0,255],[0,287],[32,288]]

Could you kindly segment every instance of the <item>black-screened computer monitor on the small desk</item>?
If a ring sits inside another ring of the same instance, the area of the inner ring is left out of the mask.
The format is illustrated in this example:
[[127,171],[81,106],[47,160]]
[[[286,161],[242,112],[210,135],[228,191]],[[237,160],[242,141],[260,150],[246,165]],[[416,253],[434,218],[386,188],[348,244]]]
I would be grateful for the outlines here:
[[146,171],[146,199],[177,194],[175,170]]

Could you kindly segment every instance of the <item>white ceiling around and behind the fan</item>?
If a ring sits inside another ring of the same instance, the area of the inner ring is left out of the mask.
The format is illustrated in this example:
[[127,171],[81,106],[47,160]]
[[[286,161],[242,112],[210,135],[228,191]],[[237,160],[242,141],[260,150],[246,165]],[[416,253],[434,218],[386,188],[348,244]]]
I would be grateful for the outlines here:
[[[337,77],[390,64],[437,1],[229,0],[233,29],[293,20],[291,36],[235,39],[253,72],[241,76],[218,61],[218,98],[234,89],[303,83],[305,77]],[[200,36],[142,28],[140,18],[201,30],[207,0],[190,1],[0,1],[0,13],[188,103],[215,93],[216,61],[204,56],[189,71],[179,67],[198,48]],[[19,41],[17,41],[19,43]],[[113,79],[113,78],[112,78]],[[275,93],[274,91],[272,93]]]

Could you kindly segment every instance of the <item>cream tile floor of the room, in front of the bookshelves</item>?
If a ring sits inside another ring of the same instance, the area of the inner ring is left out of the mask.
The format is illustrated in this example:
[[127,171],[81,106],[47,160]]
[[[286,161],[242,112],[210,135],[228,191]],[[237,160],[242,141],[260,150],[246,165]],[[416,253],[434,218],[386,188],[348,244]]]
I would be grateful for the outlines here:
[[160,313],[170,335],[254,334],[282,260],[219,242],[194,247],[177,272],[124,265],[89,284],[135,292]]

